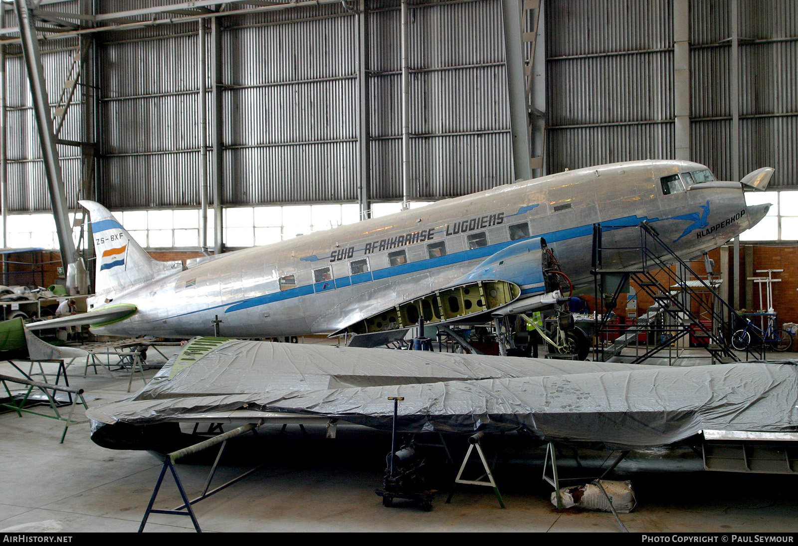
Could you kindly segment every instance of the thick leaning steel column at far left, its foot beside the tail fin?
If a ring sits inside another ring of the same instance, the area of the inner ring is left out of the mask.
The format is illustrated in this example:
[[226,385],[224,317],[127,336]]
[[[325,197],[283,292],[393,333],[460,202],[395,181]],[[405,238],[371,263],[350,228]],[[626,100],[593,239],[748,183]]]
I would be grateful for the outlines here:
[[26,0],[14,0],[14,8],[19,19],[22,55],[25,57],[30,94],[34,100],[41,154],[44,157],[49,195],[53,204],[58,246],[61,249],[61,263],[63,263],[64,271],[67,271],[69,264],[77,261],[77,251],[75,251],[75,243],[72,240],[72,226],[69,224],[69,210],[66,204],[64,180],[61,177],[61,164],[58,161],[58,150],[53,135],[52,113],[47,98],[39,42]]

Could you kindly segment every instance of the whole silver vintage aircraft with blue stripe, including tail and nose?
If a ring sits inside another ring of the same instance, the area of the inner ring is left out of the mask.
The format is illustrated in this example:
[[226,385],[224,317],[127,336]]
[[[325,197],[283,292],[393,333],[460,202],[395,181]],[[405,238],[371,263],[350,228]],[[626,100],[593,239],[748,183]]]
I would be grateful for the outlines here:
[[[221,320],[225,336],[263,338],[488,322],[551,306],[563,279],[592,286],[596,223],[646,221],[685,258],[720,246],[767,214],[744,192],[764,191],[772,173],[731,182],[689,161],[606,164],[185,264],[152,259],[106,208],[81,201],[97,253],[90,311],[29,327],[191,338]],[[610,236],[623,247],[639,233]],[[612,259],[634,267],[634,256]]]

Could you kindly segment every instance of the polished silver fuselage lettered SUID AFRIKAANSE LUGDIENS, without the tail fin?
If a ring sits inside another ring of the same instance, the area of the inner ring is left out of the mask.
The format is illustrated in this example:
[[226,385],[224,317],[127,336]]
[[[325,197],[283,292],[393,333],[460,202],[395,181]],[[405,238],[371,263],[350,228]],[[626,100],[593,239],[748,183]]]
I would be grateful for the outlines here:
[[[523,223],[531,238],[546,240],[576,286],[592,283],[595,223],[637,226],[647,220],[674,251],[693,258],[745,231],[766,212],[746,208],[739,184],[663,194],[662,176],[700,169],[705,167],[686,161],[650,160],[561,172],[231,252],[114,295],[113,303],[133,303],[139,311],[95,331],[209,335],[217,316],[223,321],[220,333],[231,337],[338,331],[456,283],[487,256],[508,247],[508,228]],[[487,246],[469,248],[468,235],[480,232]],[[400,236],[410,243],[391,247]],[[616,246],[632,246],[639,230],[609,231],[605,243],[608,236]],[[446,244],[445,263],[432,259],[427,248],[439,241]],[[389,253],[399,249],[406,251],[407,263],[390,267]],[[353,275],[350,263],[363,258],[370,271]],[[626,256],[616,265],[634,266],[634,258]],[[314,270],[322,267],[331,267],[333,279],[315,282]],[[294,275],[295,286],[281,290],[279,279],[286,275]],[[505,278],[500,266],[495,279],[519,284],[522,298],[543,291],[540,284]]]

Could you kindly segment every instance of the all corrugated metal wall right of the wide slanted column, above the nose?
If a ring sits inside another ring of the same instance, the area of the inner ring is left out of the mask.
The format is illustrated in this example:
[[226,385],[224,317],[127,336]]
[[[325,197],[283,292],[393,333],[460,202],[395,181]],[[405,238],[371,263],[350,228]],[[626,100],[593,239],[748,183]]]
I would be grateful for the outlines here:
[[[733,176],[728,0],[689,0],[693,160]],[[741,176],[798,187],[798,4],[739,0]],[[549,0],[548,171],[674,156],[672,0]]]

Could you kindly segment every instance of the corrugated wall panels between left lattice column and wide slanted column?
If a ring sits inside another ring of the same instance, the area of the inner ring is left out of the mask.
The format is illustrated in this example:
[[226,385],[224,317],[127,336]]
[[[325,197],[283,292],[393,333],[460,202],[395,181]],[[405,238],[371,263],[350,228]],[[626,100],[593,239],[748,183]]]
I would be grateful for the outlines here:
[[[371,6],[372,197],[401,199],[399,4]],[[331,5],[221,21],[224,204],[357,200],[357,18]],[[101,46],[113,208],[199,204],[196,26],[178,28]],[[413,198],[512,181],[501,2],[414,7],[409,37]]]

